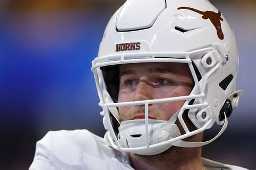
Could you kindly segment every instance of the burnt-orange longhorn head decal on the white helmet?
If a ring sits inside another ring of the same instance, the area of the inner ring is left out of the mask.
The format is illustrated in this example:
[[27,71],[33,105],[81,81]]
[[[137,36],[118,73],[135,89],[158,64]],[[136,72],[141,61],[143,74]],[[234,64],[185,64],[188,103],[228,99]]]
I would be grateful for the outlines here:
[[199,14],[202,14],[203,19],[210,19],[211,23],[214,25],[214,27],[217,30],[218,37],[221,40],[224,39],[224,34],[222,32],[222,29],[221,29],[221,21],[223,21],[223,19],[221,18],[221,12],[220,11],[218,13],[216,13],[214,11],[200,11],[200,10],[190,8],[190,7],[179,7],[178,10],[180,10],[180,9],[191,10],[191,11],[197,12]]

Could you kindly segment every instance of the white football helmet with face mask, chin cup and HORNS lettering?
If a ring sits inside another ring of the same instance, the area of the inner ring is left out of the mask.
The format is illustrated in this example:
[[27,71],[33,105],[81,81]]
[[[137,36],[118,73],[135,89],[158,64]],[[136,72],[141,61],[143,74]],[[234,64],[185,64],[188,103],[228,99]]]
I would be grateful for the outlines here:
[[[119,66],[129,63],[187,63],[194,88],[187,96],[118,103]],[[214,141],[238,106],[238,49],[221,12],[207,0],[127,0],[110,19],[92,62],[105,139],[119,151],[155,155],[172,145],[200,147]],[[185,101],[169,120],[148,118],[148,105]],[[145,119],[119,121],[118,107],[144,105]],[[182,115],[197,128],[190,131]],[[184,129],[181,134],[176,120]],[[209,141],[184,141],[214,123],[223,125]]]

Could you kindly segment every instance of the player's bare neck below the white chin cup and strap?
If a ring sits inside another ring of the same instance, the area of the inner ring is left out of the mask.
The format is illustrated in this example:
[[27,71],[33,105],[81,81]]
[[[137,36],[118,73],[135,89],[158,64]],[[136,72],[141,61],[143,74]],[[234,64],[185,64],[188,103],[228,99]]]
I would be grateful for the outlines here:
[[201,148],[171,147],[167,151],[152,156],[130,153],[131,165],[134,169],[204,169],[201,161]]

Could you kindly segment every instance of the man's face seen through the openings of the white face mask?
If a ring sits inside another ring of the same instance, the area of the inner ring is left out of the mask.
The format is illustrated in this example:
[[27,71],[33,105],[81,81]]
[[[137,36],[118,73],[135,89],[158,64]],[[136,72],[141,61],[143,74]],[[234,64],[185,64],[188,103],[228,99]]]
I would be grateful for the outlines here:
[[[136,63],[120,67],[118,102],[188,95],[194,86],[185,63]],[[168,120],[184,104],[176,101],[148,105],[148,118]],[[144,105],[119,107],[120,122],[144,119]]]

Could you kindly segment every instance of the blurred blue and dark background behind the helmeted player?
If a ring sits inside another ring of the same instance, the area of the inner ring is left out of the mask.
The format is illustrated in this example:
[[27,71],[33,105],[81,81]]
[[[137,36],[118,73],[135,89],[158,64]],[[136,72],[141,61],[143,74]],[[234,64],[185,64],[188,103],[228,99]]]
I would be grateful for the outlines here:
[[[256,169],[256,3],[210,1],[237,35],[238,88],[229,126],[203,156]],[[123,0],[1,0],[0,169],[28,169],[47,131],[104,134],[90,71],[104,27]],[[205,137],[217,133],[206,132]]]

